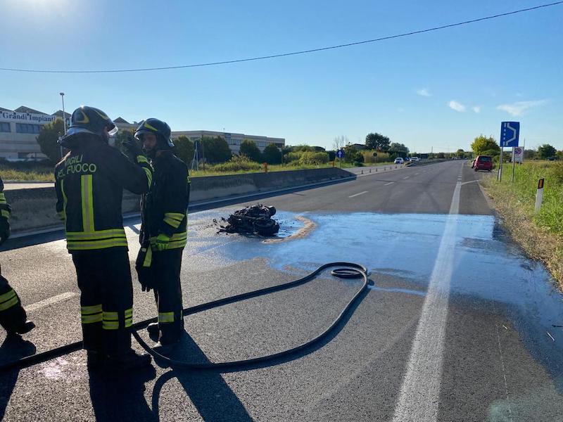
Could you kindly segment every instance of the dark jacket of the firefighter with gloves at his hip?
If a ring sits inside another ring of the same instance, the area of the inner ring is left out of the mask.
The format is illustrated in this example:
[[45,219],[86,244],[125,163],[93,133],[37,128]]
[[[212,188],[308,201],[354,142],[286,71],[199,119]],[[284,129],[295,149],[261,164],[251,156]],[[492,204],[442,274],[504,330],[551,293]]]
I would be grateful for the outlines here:
[[147,246],[159,234],[166,234],[170,236],[168,249],[184,248],[190,188],[188,168],[172,151],[159,151],[151,164],[153,184],[141,198],[141,245]]

